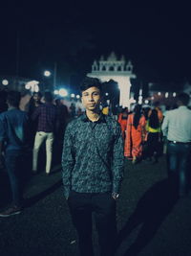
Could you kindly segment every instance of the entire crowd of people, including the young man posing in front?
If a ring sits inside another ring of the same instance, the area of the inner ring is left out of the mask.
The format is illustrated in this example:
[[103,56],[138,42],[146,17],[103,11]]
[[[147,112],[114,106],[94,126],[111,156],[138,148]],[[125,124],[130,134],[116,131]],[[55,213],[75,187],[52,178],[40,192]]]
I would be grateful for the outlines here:
[[[0,217],[23,209],[23,168],[32,151],[32,173],[38,172],[39,150],[45,143],[46,175],[51,174],[53,153],[62,165],[64,196],[78,234],[80,255],[94,255],[92,214],[95,214],[100,255],[114,255],[117,240],[116,201],[123,177],[124,159],[158,163],[167,145],[169,188],[174,197],[188,195],[191,188],[188,165],[191,153],[189,95],[180,93],[177,108],[165,111],[159,105],[133,110],[124,108],[117,120],[102,107],[102,84],[86,77],[81,85],[85,111],[76,115],[51,92],[32,97],[9,91],[0,102],[0,164],[11,181],[12,205]],[[4,100],[3,100],[4,99]],[[5,100],[6,99],[6,100]],[[27,103],[27,104],[26,104]],[[22,110],[21,110],[22,109]],[[71,112],[71,116],[70,116]],[[69,120],[71,122],[69,122]],[[53,147],[53,145],[56,147]]]

